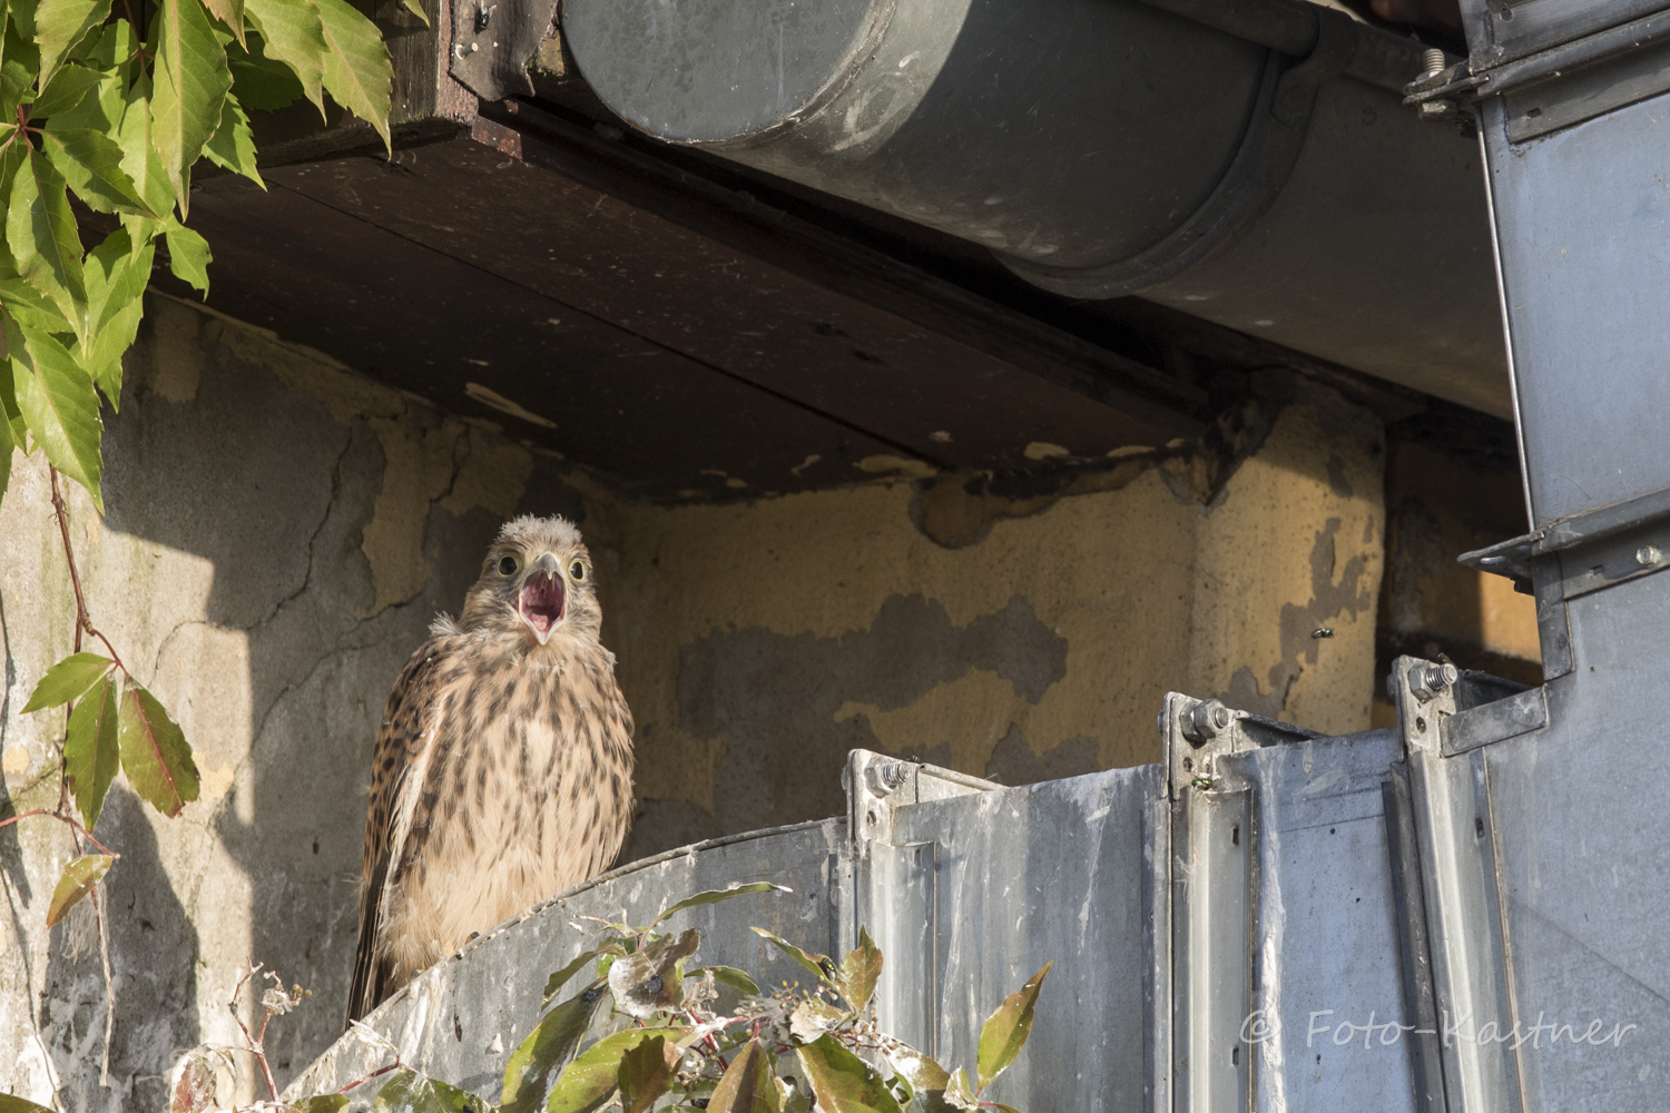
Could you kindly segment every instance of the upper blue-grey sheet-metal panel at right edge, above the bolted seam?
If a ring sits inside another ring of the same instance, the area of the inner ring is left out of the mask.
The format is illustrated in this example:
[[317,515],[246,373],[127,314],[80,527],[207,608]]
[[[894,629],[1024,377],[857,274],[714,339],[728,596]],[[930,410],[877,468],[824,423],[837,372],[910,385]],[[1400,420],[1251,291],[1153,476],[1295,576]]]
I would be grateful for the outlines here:
[[[1533,526],[1670,486],[1670,97],[1530,144],[1480,105]],[[1620,327],[1628,322],[1628,327]]]

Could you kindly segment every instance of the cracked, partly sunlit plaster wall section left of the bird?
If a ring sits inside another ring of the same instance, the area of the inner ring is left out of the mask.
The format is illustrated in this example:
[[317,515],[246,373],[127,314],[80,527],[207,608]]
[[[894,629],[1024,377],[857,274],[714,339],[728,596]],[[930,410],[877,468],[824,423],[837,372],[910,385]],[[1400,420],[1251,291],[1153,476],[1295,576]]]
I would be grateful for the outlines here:
[[[184,726],[202,798],[169,821],[119,786],[99,823],[122,853],[112,1090],[97,1085],[87,906],[42,929],[70,839],[50,819],[0,829],[0,1090],[160,1110],[180,1050],[235,1043],[225,1001],[250,958],[316,993],[272,1028],[281,1075],[334,1038],[387,686],[434,612],[458,607],[501,517],[578,502],[489,429],[165,299],[105,446],[109,517],[68,492],[89,606]],[[17,456],[0,509],[0,816],[57,796],[62,713],[22,706],[73,636],[58,546],[45,466]]]

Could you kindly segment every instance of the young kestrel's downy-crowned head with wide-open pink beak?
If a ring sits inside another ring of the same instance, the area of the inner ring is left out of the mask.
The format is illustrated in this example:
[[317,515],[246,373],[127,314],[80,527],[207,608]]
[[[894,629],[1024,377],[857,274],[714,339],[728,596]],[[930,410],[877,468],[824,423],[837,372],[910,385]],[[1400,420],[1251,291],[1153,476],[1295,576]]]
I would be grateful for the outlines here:
[[518,632],[541,646],[559,631],[596,639],[603,612],[579,531],[561,517],[524,514],[506,522],[464,596],[461,624]]

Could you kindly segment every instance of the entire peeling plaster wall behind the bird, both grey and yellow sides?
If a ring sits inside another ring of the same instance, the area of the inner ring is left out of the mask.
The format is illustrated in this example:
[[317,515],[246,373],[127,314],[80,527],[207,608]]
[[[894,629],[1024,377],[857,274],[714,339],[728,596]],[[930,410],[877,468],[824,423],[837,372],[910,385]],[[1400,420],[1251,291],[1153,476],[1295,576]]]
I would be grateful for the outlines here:
[[[72,541],[94,619],[179,716],[204,793],[167,821],[117,788],[100,819],[124,854],[112,1090],[89,913],[42,929],[70,841],[47,819],[0,829],[0,1090],[160,1108],[180,1050],[235,1043],[225,1001],[250,958],[314,990],[274,1021],[281,1080],[334,1038],[384,694],[514,512],[566,512],[593,546],[640,724],[631,854],[832,814],[852,746],[1009,783],[1152,761],[1167,689],[1368,726],[1381,429],[1323,387],[1266,387],[1214,451],[1131,451],[1070,481],[900,471],[663,507],[155,300],[107,415],[109,516],[72,492]],[[72,639],[48,509],[42,462],[17,457],[0,816],[55,794],[62,716],[20,713]]]

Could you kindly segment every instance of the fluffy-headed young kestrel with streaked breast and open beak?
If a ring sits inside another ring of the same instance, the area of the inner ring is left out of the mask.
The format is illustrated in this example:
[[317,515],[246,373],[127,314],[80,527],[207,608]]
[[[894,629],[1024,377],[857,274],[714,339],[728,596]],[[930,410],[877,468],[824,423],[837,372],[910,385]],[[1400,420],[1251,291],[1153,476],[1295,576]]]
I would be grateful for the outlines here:
[[605,869],[631,819],[631,711],[598,642],[591,557],[561,517],[508,522],[389,692],[347,1016]]

